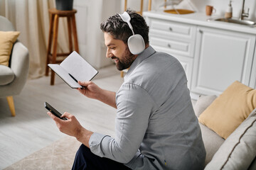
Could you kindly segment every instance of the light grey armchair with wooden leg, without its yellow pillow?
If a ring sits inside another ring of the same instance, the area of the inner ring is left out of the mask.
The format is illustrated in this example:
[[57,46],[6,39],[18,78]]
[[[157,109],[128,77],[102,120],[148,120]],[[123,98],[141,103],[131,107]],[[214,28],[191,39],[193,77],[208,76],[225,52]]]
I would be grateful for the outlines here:
[[[14,31],[12,23],[4,16],[0,16],[0,30]],[[18,40],[14,43],[9,67],[0,64],[0,97],[6,97],[11,110],[15,116],[13,96],[21,93],[28,78],[28,49]]]

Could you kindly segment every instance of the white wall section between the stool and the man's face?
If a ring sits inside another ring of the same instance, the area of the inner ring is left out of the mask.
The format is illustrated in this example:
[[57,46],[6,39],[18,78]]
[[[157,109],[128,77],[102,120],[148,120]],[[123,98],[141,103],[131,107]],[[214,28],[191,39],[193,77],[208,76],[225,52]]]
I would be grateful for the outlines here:
[[119,0],[74,0],[73,8],[78,10],[75,19],[80,55],[97,69],[112,64],[105,57],[100,23],[120,11]]

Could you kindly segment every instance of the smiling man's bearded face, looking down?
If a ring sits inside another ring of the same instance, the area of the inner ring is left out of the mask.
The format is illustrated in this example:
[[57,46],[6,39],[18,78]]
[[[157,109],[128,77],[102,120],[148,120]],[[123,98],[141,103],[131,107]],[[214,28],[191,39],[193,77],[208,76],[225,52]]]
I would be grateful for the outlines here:
[[128,46],[122,40],[114,39],[110,33],[104,33],[105,45],[107,46],[107,58],[114,60],[120,71],[132,65],[137,55],[132,55]]

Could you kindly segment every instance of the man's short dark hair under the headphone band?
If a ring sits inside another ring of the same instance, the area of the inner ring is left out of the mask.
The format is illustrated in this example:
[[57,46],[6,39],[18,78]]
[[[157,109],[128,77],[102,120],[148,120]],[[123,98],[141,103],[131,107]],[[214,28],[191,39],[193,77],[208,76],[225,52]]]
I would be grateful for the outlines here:
[[[132,10],[127,10],[131,17],[130,23],[134,30],[134,34],[142,35],[145,45],[149,43],[149,26],[146,25],[146,21],[142,16]],[[128,38],[132,35],[132,30],[129,28],[128,23],[122,21],[122,18],[116,13],[114,16],[110,16],[107,21],[100,24],[100,29],[103,32],[110,33],[114,39],[122,40],[127,44]]]

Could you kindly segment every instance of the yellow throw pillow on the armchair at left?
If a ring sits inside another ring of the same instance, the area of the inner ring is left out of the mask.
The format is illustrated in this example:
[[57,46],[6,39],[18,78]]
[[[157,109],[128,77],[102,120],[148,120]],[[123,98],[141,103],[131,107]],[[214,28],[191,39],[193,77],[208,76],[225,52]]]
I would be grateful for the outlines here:
[[0,64],[8,66],[11,49],[20,32],[0,31]]

